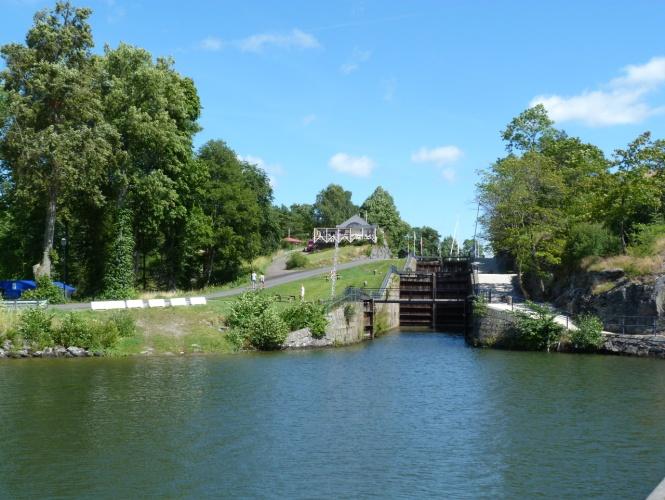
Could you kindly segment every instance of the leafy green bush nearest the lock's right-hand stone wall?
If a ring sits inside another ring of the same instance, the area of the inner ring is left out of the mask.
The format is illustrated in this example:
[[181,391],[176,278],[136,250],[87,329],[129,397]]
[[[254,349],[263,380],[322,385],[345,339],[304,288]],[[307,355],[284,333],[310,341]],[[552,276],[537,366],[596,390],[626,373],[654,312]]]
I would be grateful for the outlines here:
[[561,339],[563,327],[556,323],[555,314],[546,306],[527,303],[529,311],[515,311],[517,345],[531,351],[550,351]]

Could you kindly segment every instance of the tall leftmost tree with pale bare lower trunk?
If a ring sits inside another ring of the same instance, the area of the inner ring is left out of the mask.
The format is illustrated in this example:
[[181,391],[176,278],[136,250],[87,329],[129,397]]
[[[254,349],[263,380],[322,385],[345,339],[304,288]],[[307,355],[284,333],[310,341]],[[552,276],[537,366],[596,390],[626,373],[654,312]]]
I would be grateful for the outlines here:
[[35,276],[51,275],[59,203],[75,195],[100,197],[98,181],[117,144],[102,113],[90,13],[58,2],[35,15],[26,45],[0,49],[10,114],[2,156],[17,196],[39,198],[44,207]]

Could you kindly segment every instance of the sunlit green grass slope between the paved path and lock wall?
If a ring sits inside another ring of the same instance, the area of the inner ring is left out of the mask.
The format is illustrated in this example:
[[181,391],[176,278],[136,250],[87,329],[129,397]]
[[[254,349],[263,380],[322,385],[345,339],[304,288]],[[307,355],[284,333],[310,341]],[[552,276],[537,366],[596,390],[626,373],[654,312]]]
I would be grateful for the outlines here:
[[[340,271],[340,278],[337,280],[335,287],[335,295],[344,293],[344,289],[349,286],[362,287],[364,282],[367,281],[369,288],[378,288],[383,282],[390,266],[394,265],[398,268],[404,265],[402,259],[384,260],[377,262],[370,262],[361,266],[351,269]],[[374,272],[376,270],[376,273]],[[301,281],[294,281],[286,283],[266,290],[266,293],[271,295],[281,296],[295,296],[300,297],[300,286],[305,286],[305,300],[327,300],[330,298],[330,281],[326,281],[327,272],[321,273],[313,278],[304,279]]]

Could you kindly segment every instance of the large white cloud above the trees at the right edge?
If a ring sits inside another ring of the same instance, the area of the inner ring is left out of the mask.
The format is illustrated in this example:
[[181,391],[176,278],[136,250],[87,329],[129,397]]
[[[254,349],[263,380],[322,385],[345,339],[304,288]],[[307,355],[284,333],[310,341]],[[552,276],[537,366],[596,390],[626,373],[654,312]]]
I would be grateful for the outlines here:
[[542,104],[555,122],[578,121],[590,127],[639,123],[665,112],[646,101],[650,92],[665,85],[665,57],[654,57],[643,65],[629,65],[624,75],[610,80],[600,90],[579,95],[536,96],[530,106]]

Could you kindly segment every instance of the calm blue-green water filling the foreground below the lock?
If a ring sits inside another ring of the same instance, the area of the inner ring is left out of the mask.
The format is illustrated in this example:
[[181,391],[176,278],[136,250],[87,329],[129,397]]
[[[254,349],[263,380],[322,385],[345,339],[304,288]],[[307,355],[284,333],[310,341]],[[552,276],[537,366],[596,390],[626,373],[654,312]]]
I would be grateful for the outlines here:
[[644,498],[665,361],[445,334],[0,363],[0,497]]

